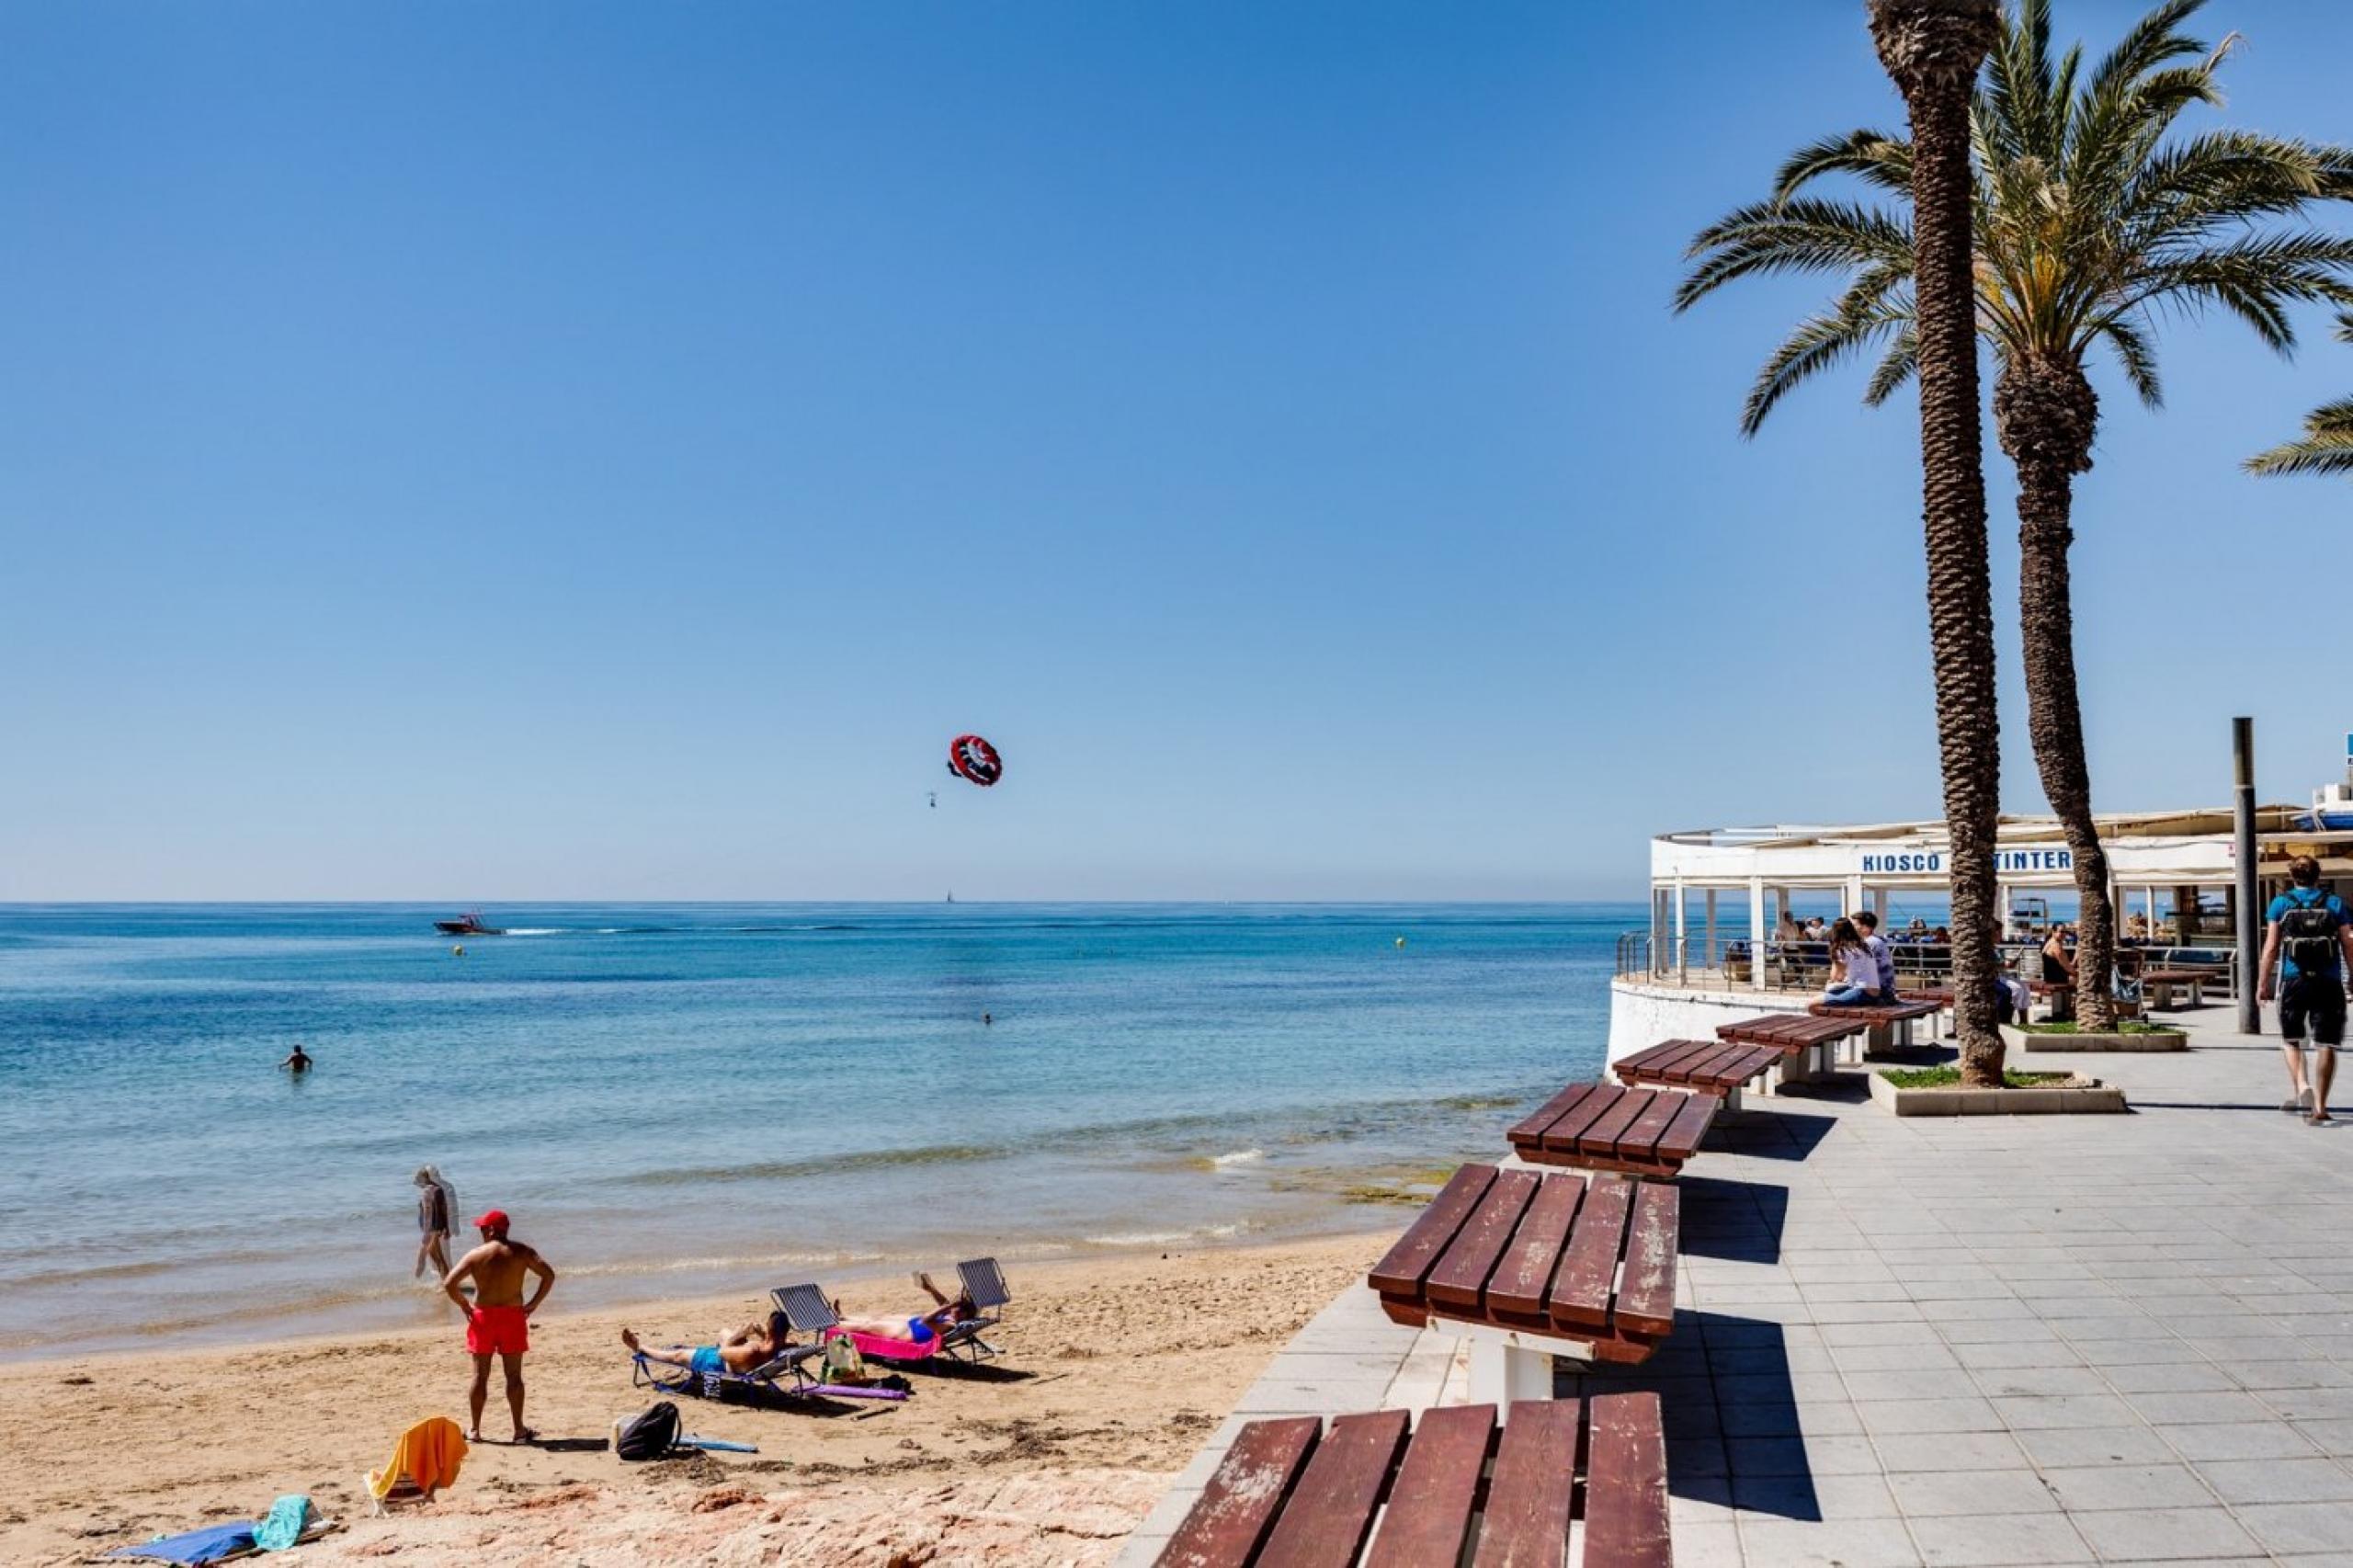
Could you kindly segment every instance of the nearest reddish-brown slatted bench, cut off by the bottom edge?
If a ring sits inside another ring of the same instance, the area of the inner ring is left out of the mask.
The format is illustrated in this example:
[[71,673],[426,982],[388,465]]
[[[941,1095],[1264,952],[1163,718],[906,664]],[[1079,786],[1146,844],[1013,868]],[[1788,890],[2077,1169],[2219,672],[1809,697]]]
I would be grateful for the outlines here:
[[1527,1401],[1501,1427],[1494,1406],[1442,1406],[1407,1424],[1405,1410],[1329,1431],[1313,1415],[1245,1424],[1162,1568],[1671,1568],[1657,1394]]

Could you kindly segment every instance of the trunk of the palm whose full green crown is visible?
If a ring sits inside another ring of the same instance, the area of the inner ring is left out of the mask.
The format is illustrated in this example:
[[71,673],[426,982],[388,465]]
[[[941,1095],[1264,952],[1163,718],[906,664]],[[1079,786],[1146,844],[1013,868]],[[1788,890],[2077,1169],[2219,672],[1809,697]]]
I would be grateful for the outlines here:
[[2075,610],[2068,546],[2075,476],[2092,469],[2099,396],[2080,365],[2019,360],[1993,388],[1993,426],[2019,466],[2019,633],[2026,645],[2026,730],[2042,793],[2075,852],[2075,1005],[2082,1029],[2115,1029],[2115,909],[2108,855],[2092,822],[2092,768],[2075,699]]

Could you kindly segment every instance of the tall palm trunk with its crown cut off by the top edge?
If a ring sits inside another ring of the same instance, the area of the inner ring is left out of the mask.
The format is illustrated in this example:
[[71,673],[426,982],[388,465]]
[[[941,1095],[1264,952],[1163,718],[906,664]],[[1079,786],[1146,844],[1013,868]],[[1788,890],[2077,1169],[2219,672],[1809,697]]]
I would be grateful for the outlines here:
[[1969,273],[1969,82],[1993,47],[2000,7],[1998,0],[1868,0],[1868,7],[1871,42],[1904,92],[1913,132],[1920,480],[1937,746],[1953,845],[1953,1031],[1962,1083],[1998,1088],[1993,833],[2002,758],[1993,709],[1993,574],[1986,565],[1986,454]]

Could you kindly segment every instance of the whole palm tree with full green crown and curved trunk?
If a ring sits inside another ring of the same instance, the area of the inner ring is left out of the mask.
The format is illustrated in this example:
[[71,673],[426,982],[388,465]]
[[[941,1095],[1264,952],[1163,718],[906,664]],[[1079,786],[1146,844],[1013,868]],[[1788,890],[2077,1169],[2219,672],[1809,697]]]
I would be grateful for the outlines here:
[[[2092,469],[2099,431],[2085,365],[2106,348],[2141,403],[2158,407],[2151,323],[2160,311],[2221,308],[2287,353],[2289,304],[2353,301],[2353,238],[2294,221],[2315,200],[2353,195],[2353,153],[2254,132],[2172,134],[2191,104],[2221,101],[2217,71],[2231,42],[2209,49],[2181,33],[2202,5],[2167,0],[2085,75],[2080,47],[2052,54],[2049,0],[2021,0],[1969,106],[1977,332],[1993,346],[1995,431],[2019,473],[2028,735],[2073,850],[2092,1029],[2115,1017],[2115,916],[2092,822],[2068,584],[2073,483]],[[1904,195],[1915,158],[1885,132],[1828,137],[1781,167],[1772,200],[1692,242],[1699,264],[1678,306],[1748,273],[1847,280],[1765,363],[1741,417],[1746,433],[1786,391],[1857,353],[1878,353],[1864,388],[1871,405],[1920,370],[1913,224],[1901,210],[1805,193],[1826,174],[1854,174]]]

